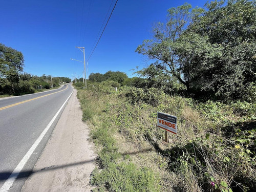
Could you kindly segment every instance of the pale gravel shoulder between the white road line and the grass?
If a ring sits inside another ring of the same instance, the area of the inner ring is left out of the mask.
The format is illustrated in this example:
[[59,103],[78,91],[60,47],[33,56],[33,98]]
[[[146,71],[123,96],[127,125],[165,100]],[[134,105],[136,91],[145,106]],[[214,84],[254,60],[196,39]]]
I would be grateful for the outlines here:
[[22,191],[91,191],[94,145],[74,90]]

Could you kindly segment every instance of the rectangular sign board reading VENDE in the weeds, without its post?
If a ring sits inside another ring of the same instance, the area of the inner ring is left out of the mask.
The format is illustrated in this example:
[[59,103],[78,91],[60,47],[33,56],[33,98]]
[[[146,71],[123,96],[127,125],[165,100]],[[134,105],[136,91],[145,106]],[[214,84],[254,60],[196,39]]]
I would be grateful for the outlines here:
[[177,134],[177,117],[157,112],[157,126],[168,132]]

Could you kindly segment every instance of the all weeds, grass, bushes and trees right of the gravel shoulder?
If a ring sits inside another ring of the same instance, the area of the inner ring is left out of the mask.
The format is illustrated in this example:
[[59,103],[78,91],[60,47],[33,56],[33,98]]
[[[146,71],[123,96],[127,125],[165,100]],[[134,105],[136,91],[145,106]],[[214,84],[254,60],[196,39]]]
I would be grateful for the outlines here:
[[[168,9],[136,50],[154,61],[140,77],[77,84],[98,153],[94,191],[255,191],[255,5]],[[178,117],[168,143],[157,112]]]

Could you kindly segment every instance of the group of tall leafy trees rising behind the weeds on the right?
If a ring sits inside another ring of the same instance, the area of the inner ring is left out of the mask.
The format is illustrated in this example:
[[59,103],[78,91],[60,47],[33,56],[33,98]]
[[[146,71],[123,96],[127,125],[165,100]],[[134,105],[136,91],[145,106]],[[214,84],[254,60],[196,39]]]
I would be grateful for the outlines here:
[[138,73],[190,95],[255,98],[255,5],[229,0],[206,3],[205,9],[187,3],[168,9],[167,22],[155,24],[153,38],[136,50],[154,61]]

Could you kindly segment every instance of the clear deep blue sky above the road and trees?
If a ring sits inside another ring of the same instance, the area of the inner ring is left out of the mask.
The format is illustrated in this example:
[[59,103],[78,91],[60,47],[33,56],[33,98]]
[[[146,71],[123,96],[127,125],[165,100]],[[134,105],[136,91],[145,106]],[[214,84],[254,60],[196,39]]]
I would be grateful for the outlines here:
[[[0,42],[23,53],[27,73],[82,77],[83,63],[70,58],[83,61],[83,53],[75,48],[79,46],[85,47],[88,60],[115,2],[1,1]],[[165,21],[167,9],[186,2],[193,7],[203,7],[206,3],[201,0],[119,0],[86,65],[87,78],[90,73],[104,74],[109,70],[122,71],[132,77],[131,69],[149,65],[151,61],[136,53],[136,48],[144,39],[151,38],[153,23]]]

